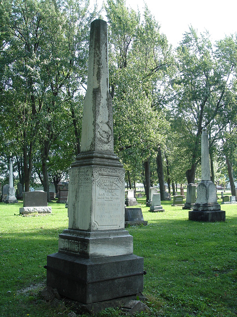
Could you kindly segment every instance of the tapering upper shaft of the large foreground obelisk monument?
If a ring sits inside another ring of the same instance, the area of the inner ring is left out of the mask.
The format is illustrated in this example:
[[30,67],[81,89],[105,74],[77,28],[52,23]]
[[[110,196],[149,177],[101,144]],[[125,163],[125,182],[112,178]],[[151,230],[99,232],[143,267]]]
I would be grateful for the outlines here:
[[114,153],[112,99],[109,94],[107,23],[95,20],[90,31],[87,91],[81,153]]

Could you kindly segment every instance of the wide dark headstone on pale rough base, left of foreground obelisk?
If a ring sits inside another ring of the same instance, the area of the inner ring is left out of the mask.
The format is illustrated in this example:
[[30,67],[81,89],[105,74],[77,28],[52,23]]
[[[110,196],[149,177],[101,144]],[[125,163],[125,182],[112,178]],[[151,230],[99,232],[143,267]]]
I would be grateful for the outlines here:
[[47,193],[43,191],[23,193],[23,208],[20,208],[20,214],[31,213],[51,213],[52,208],[48,207]]

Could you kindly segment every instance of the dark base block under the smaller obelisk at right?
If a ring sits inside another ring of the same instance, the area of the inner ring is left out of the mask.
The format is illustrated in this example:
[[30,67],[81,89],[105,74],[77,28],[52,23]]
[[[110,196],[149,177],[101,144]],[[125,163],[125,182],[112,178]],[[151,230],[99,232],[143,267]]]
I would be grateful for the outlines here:
[[189,220],[194,221],[205,221],[205,222],[215,222],[215,221],[225,221],[226,211],[189,211]]

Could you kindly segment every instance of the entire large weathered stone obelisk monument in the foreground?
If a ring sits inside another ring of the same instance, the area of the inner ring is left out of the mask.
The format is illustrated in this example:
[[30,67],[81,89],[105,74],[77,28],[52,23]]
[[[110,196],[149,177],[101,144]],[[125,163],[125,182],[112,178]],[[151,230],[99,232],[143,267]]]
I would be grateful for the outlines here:
[[47,285],[89,304],[143,290],[143,258],[124,230],[124,169],[114,154],[107,23],[91,23],[81,154],[70,169],[69,228],[47,256]]

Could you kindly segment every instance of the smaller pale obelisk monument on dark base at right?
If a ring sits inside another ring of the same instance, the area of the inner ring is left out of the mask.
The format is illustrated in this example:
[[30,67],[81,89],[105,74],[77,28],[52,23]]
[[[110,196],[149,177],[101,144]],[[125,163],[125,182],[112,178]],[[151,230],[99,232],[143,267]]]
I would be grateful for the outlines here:
[[201,134],[201,182],[197,186],[197,199],[189,220],[225,221],[226,212],[217,203],[216,187],[211,181],[208,135],[206,129]]

